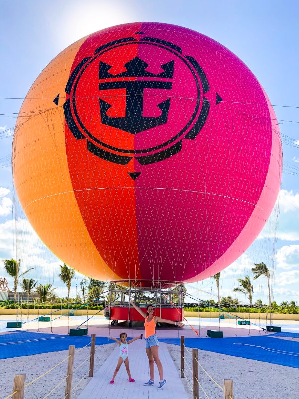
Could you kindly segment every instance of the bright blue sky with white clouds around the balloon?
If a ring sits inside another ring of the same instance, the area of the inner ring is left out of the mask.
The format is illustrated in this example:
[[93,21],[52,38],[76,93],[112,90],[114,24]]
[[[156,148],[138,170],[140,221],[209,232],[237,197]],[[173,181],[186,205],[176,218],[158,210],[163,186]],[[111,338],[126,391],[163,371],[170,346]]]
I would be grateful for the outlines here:
[[[299,302],[298,1],[0,0],[0,8],[0,98],[17,98],[0,100],[0,259],[16,256],[9,160],[15,117],[35,78],[65,47],[94,31],[134,21],[173,23],[219,41],[245,62],[274,105],[282,133],[284,173],[277,233],[268,226],[263,232],[263,237],[267,237],[257,240],[223,272],[221,292],[231,294],[236,278],[249,273],[254,261],[262,261],[259,256],[265,251],[275,259],[274,299]],[[274,222],[275,215],[271,220]],[[54,277],[57,259],[44,250],[25,221],[17,223],[31,251],[29,263],[35,266],[31,276],[52,279],[57,292],[66,295]],[[4,270],[0,263],[1,275]],[[76,277],[73,294],[78,291],[81,278]],[[266,282],[256,282],[254,301],[266,301],[265,291]],[[210,298],[216,290],[206,280],[190,287],[190,292]]]

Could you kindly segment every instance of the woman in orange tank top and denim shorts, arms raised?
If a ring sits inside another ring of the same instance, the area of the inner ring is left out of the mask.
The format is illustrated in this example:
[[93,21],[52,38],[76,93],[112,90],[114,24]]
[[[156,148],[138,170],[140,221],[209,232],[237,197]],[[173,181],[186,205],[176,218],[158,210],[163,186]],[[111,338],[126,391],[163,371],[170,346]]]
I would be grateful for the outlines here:
[[146,336],[146,352],[149,359],[149,370],[150,370],[150,380],[144,385],[154,385],[154,361],[158,367],[160,374],[160,385],[158,389],[162,389],[166,383],[166,380],[163,377],[163,366],[159,359],[159,341],[157,339],[155,333],[156,323],[168,323],[174,324],[175,326],[184,327],[184,324],[181,322],[176,322],[172,320],[162,319],[161,317],[154,316],[153,314],[153,306],[148,305],[147,314],[145,314],[138,306],[130,298],[131,305],[145,318],[145,336]]

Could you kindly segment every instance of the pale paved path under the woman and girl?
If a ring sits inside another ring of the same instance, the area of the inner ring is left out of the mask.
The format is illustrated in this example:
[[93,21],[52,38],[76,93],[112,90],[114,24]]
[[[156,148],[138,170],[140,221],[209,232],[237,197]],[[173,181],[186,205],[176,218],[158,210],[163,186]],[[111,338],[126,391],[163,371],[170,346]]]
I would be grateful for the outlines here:
[[159,357],[163,364],[164,378],[167,380],[162,390],[157,389],[159,375],[156,365],[155,385],[151,387],[144,387],[143,385],[144,382],[149,380],[149,362],[145,351],[145,340],[137,340],[130,344],[128,352],[130,371],[132,378],[136,381],[135,383],[128,382],[125,365],[122,364],[114,384],[109,384],[119,358],[119,346],[115,344],[115,350],[94,374],[94,377],[77,399],[188,399],[165,343],[160,342],[159,347]]

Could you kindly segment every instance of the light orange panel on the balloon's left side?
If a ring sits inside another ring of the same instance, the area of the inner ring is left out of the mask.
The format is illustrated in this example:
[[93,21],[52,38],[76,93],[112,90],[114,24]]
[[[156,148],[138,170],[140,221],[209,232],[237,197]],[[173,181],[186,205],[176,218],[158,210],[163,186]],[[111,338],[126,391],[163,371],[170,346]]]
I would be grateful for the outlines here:
[[58,93],[64,93],[84,40],[59,54],[30,88],[13,139],[13,178],[27,218],[58,258],[87,276],[119,279],[85,227],[67,164],[64,99],[59,99],[61,105],[53,103]]

